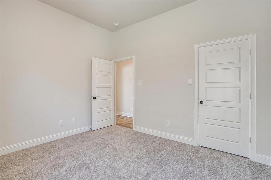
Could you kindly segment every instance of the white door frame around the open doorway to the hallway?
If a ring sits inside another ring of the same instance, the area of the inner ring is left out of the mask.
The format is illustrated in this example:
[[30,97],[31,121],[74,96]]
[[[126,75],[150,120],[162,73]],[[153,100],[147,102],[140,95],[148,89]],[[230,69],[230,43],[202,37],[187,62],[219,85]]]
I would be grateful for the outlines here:
[[134,68],[134,64],[135,64],[135,56],[128,56],[128,57],[124,57],[124,58],[118,58],[118,59],[114,59],[112,61],[115,62],[115,124],[117,124],[117,62],[119,61],[126,61],[126,60],[130,60],[133,59],[133,74],[134,74],[134,82],[133,82],[133,130],[134,130],[134,125],[135,125],[135,68]]

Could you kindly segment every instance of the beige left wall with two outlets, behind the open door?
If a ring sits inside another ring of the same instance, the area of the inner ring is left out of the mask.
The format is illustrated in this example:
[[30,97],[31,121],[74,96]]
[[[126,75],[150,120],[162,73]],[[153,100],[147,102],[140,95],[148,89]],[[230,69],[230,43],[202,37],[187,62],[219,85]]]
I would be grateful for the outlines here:
[[1,147],[91,125],[91,57],[111,59],[111,35],[40,1],[1,1]]

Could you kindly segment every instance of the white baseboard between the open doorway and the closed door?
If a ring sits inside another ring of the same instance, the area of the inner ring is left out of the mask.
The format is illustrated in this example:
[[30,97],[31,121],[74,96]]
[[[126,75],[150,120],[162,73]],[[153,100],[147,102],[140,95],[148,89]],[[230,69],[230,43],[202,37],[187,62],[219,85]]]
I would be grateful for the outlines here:
[[169,140],[174,140],[174,141],[178,141],[181,143],[186,143],[186,144],[190,144],[195,146],[195,142],[194,139],[192,138],[188,138],[188,137],[183,137],[183,136],[178,136],[178,135],[174,135],[174,134],[169,134],[169,133],[164,133],[161,131],[156,131],[156,130],[152,130],[152,129],[147,129],[147,128],[141,128],[138,126],[134,126],[134,131],[138,131],[141,133],[146,133],[146,134],[150,134],[153,136],[158,136],[158,137],[162,137],[162,138],[166,138]]

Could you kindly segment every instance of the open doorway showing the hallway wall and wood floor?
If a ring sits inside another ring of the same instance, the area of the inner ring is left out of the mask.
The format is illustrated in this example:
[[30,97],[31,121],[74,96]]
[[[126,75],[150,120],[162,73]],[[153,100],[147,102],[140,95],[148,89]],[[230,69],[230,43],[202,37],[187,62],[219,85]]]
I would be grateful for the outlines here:
[[134,128],[134,57],[115,60],[115,124]]

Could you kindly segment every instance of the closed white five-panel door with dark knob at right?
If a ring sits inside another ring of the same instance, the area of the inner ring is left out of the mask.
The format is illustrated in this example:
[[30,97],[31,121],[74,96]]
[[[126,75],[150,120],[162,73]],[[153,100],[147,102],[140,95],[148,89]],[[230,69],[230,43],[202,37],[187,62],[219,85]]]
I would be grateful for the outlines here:
[[250,40],[199,48],[198,145],[250,156]]

